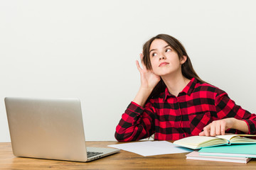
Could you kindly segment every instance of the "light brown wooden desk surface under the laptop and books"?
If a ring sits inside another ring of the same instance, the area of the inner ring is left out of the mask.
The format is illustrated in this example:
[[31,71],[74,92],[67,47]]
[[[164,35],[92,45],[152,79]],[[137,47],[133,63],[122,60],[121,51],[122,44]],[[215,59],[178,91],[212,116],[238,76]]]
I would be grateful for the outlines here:
[[[88,147],[107,147],[119,142],[87,142]],[[0,143],[0,169],[256,169],[256,159],[247,164],[186,160],[186,153],[143,157],[121,150],[92,162],[65,162],[15,157],[11,143]]]

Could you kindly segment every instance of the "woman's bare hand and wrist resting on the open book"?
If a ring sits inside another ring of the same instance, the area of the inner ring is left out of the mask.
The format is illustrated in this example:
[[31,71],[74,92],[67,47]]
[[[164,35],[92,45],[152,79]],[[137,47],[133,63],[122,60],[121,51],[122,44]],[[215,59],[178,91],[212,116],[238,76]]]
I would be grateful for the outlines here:
[[247,133],[248,127],[245,121],[238,120],[236,118],[225,118],[221,120],[215,120],[205,128],[203,132],[199,133],[199,136],[215,136],[215,135],[225,135],[225,130],[236,129]]

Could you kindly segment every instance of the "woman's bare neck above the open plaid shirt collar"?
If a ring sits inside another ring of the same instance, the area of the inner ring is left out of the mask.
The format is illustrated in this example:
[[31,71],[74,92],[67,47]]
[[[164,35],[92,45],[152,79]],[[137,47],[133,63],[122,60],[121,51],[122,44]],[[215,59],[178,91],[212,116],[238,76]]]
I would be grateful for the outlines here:
[[163,79],[164,84],[166,84],[168,91],[174,96],[178,96],[190,81],[190,79],[183,77],[182,74],[166,75],[161,78]]

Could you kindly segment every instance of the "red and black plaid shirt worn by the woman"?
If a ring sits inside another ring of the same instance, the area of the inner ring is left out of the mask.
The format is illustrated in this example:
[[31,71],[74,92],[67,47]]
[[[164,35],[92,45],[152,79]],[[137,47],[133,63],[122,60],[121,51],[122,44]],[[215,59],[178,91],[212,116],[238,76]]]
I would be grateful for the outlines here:
[[[155,133],[155,140],[179,140],[198,135],[213,120],[223,118],[244,120],[249,134],[256,133],[255,114],[235,105],[225,91],[193,78],[178,96],[170,94],[166,88],[144,108],[130,103],[117,125],[115,137],[119,142],[127,142]],[[226,132],[242,133],[233,129]]]

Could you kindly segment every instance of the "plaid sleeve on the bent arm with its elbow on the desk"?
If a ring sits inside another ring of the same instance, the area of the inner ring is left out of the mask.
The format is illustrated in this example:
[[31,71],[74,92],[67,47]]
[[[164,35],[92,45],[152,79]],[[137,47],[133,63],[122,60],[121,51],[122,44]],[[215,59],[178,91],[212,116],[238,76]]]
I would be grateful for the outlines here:
[[142,140],[154,134],[154,108],[146,103],[145,108],[130,103],[117,125],[114,137],[119,142]]

